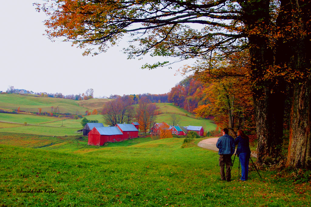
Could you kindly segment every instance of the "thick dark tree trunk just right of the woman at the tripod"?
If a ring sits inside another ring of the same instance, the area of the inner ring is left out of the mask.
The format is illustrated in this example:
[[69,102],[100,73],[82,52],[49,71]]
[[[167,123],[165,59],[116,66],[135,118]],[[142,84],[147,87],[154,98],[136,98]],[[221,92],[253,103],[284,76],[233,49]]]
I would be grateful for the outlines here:
[[253,87],[259,164],[266,156],[277,157],[283,136],[284,94],[283,85],[270,77],[274,66],[274,48],[270,39],[270,1],[238,1],[243,8],[243,21],[248,34],[251,56],[250,74]]

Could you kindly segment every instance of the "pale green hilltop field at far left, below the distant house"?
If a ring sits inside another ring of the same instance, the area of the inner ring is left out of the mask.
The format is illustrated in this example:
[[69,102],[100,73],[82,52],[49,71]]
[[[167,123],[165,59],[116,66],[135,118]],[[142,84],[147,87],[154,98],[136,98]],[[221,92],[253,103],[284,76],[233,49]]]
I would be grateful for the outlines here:
[[18,94],[0,94],[0,107],[4,109],[17,109],[21,107],[22,111],[38,112],[38,108],[42,108],[42,112],[51,112],[51,107],[59,107],[60,113],[78,113],[84,114],[86,108],[81,107],[74,100],[64,98],[51,97],[35,97]]

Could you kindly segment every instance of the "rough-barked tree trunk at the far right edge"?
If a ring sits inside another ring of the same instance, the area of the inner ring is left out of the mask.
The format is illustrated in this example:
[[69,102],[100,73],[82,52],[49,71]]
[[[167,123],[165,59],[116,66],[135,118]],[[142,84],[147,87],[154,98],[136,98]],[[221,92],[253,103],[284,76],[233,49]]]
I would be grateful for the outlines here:
[[[288,2],[288,0],[286,0]],[[289,12],[291,18],[290,58],[291,70],[300,73],[296,80],[290,113],[290,143],[288,147],[287,167],[311,168],[311,54],[310,54],[310,2],[291,0]],[[286,7],[287,8],[287,7]]]

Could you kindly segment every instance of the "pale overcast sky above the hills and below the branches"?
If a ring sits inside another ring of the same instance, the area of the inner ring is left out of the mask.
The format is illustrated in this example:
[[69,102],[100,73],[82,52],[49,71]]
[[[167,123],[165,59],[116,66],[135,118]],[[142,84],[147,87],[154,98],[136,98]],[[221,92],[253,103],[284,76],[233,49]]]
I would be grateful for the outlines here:
[[[115,46],[97,56],[82,56],[83,50],[68,42],[51,42],[43,36],[45,14],[32,5],[38,0],[2,1],[0,12],[0,91],[8,86],[33,92],[64,95],[94,89],[94,96],[110,94],[166,93],[184,77],[174,75],[186,62],[172,69],[142,70],[155,58],[127,60]],[[126,45],[123,43],[123,45]]]

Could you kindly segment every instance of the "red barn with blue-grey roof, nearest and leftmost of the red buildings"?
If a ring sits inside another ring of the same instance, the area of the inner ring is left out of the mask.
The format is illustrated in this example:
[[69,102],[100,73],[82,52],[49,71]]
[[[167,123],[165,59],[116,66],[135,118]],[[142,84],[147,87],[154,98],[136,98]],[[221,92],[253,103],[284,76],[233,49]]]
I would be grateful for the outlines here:
[[94,127],[88,134],[87,144],[102,146],[105,142],[120,142],[122,137],[118,127]]

